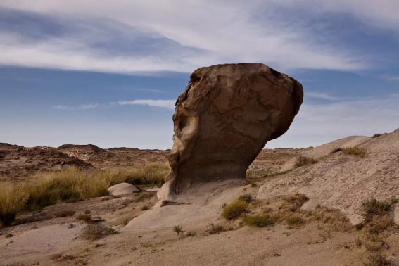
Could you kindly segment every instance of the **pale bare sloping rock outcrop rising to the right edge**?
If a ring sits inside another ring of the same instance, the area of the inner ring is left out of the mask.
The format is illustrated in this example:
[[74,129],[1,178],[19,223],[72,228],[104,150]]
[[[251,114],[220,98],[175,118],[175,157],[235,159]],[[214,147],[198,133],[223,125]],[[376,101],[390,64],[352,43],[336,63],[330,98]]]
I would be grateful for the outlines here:
[[[367,149],[364,158],[331,153],[338,147]],[[349,137],[306,151],[318,163],[298,167],[285,175],[270,179],[260,188],[258,198],[270,198],[298,191],[309,196],[304,208],[317,204],[337,208],[351,222],[360,222],[360,205],[367,198],[387,200],[399,196],[399,130],[381,137]]]

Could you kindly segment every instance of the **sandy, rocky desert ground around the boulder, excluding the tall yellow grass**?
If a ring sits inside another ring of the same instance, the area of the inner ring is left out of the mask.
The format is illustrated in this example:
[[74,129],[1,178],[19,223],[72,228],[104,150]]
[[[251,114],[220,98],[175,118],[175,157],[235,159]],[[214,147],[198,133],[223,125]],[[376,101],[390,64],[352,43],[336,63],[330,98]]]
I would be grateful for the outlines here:
[[[1,183],[154,165],[165,175],[169,153],[1,144]],[[0,264],[399,265],[398,166],[399,129],[264,149],[246,179],[197,186],[162,208],[153,208],[161,183],[144,172],[144,182],[129,179],[134,193],[23,208],[0,229]]]

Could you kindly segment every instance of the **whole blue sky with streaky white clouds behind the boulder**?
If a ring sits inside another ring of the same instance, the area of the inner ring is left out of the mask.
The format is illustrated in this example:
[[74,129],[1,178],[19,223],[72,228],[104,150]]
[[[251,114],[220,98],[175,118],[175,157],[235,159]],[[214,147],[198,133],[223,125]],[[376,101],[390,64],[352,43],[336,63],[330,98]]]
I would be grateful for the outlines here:
[[305,101],[267,148],[399,127],[399,1],[0,1],[0,142],[172,148],[196,68],[260,62]]

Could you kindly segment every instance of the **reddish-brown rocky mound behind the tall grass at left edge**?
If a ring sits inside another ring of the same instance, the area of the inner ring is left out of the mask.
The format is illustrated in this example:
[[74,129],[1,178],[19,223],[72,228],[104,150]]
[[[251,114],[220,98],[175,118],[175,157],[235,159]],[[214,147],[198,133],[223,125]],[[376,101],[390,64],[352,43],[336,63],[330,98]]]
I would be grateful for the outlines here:
[[0,145],[0,179],[23,178],[37,172],[56,171],[70,166],[83,169],[92,167],[56,148]]

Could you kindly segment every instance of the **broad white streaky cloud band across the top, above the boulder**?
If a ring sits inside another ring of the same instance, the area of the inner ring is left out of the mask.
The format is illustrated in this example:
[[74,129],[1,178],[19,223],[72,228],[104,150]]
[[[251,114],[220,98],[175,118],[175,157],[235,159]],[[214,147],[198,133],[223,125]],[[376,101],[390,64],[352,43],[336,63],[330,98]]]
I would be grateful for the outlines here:
[[[321,2],[317,5],[324,6]],[[291,6],[296,6],[295,1]],[[351,71],[372,65],[356,49],[341,42],[321,41],[318,36],[323,30],[292,20],[286,15],[291,6],[286,8],[274,0],[267,4],[165,0],[156,5],[115,0],[112,4],[101,1],[91,8],[90,0],[36,0],[34,4],[4,0],[0,7],[36,12],[52,20],[58,19],[52,16],[57,13],[69,19],[65,24],[84,27],[29,42],[25,32],[1,34],[0,63],[124,73],[192,72],[204,65],[251,61],[279,70]],[[79,23],[73,23],[75,19]]]

